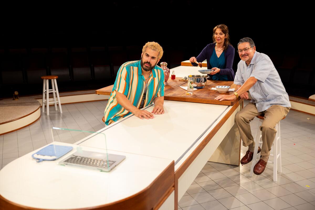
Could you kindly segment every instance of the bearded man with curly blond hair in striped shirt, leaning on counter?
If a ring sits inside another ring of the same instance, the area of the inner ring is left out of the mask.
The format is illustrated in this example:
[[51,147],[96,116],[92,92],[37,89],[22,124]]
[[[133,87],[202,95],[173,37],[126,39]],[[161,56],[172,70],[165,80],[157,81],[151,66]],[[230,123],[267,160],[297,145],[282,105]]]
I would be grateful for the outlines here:
[[[110,98],[105,108],[105,124],[109,125],[133,113],[140,119],[153,119],[163,114],[164,72],[157,66],[163,49],[157,42],[147,42],[141,60],[124,63],[118,70]],[[141,108],[154,102],[152,112]]]

